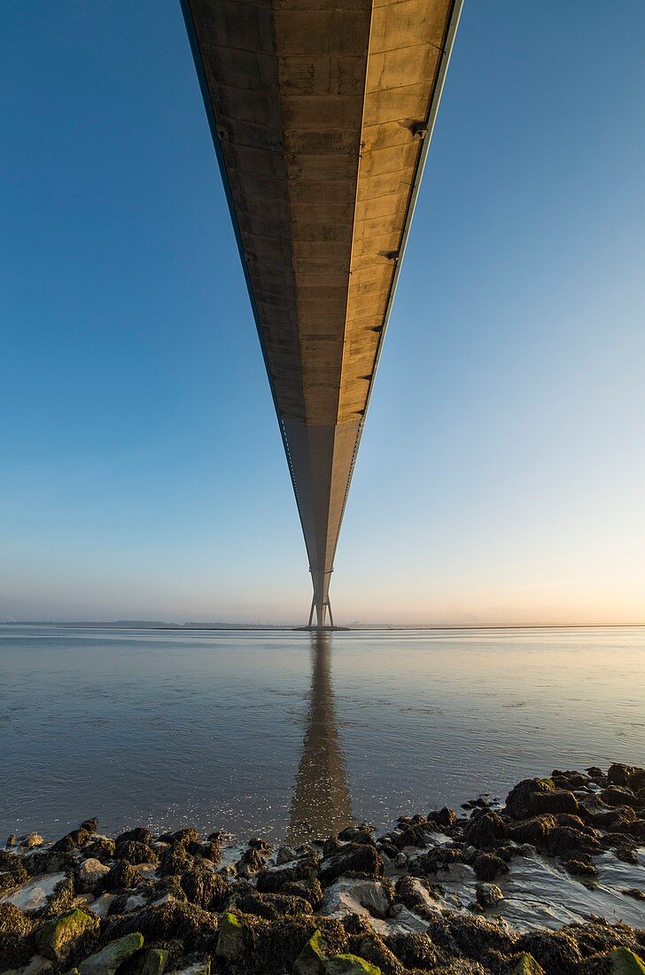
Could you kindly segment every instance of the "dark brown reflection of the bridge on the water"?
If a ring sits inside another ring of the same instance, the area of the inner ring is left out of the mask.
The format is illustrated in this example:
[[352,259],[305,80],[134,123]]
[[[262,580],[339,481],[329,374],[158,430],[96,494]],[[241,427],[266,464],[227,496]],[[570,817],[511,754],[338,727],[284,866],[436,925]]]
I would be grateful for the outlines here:
[[312,634],[311,652],[309,713],[286,834],[291,845],[326,838],[354,822],[338,739],[326,633]]

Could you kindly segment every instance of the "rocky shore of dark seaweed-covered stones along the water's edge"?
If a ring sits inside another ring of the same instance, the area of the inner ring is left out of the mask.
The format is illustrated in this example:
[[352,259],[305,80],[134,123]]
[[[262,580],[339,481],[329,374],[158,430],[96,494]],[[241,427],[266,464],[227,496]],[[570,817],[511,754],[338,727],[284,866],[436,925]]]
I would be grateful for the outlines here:
[[90,819],[0,851],[0,972],[645,973],[644,844],[619,763],[297,849]]

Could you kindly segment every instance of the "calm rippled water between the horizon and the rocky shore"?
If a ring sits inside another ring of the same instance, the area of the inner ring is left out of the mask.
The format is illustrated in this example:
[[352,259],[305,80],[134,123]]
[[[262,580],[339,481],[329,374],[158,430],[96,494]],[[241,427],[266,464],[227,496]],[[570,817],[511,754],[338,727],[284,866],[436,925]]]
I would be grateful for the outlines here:
[[[0,626],[0,834],[291,839],[645,761],[645,629]],[[2,838],[0,838],[2,839]]]

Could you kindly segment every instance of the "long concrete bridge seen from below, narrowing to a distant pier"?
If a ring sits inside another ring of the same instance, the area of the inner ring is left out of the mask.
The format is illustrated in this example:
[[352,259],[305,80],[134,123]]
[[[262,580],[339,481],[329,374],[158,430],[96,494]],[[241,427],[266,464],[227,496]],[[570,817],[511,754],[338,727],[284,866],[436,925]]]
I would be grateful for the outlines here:
[[[181,0],[314,596],[329,580],[462,0]],[[214,258],[213,258],[214,259]]]

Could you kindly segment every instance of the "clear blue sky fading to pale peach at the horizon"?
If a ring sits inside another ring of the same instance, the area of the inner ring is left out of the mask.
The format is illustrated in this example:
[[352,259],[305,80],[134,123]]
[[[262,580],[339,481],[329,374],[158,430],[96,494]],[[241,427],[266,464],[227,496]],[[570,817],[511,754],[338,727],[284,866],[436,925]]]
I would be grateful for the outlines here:
[[[645,622],[645,6],[620,6],[466,0],[339,621]],[[0,22],[0,618],[302,618],[178,0]]]

